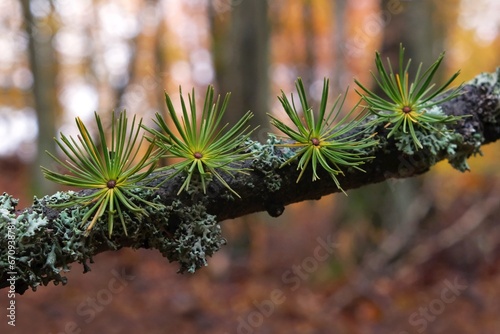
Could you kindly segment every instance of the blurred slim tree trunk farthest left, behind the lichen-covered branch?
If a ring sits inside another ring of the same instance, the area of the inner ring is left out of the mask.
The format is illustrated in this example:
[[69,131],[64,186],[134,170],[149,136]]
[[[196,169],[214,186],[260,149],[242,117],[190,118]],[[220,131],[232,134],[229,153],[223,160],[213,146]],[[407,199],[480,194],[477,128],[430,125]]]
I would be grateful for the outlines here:
[[[32,15],[30,1],[22,0],[23,14],[28,34],[28,52],[33,73],[33,107],[38,118],[37,155],[32,164],[31,192],[35,195],[51,194],[56,186],[47,181],[40,166],[50,166],[52,159],[45,153],[54,151],[55,115],[57,109],[57,63],[52,47],[53,32],[50,21],[41,24]],[[51,3],[52,4],[52,3]],[[50,17],[48,18],[50,20]]]

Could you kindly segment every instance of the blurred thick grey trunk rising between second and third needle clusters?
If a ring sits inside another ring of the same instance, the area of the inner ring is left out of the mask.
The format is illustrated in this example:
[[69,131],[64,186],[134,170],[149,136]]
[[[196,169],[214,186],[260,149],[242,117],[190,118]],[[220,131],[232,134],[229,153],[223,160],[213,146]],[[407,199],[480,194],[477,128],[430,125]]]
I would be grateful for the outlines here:
[[267,0],[241,1],[229,15],[211,7],[213,54],[221,94],[231,92],[225,122],[251,110],[251,125],[267,124],[269,99],[269,19]]

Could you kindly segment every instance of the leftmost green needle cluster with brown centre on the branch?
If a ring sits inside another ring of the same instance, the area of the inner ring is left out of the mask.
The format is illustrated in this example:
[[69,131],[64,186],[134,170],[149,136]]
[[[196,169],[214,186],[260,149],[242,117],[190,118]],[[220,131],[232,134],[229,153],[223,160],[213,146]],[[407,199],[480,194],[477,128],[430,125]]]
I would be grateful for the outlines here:
[[127,126],[125,111],[120,113],[118,122],[115,121],[113,113],[111,123],[111,143],[106,139],[106,134],[100,117],[95,114],[99,141],[92,139],[88,129],[80,118],[76,118],[76,125],[80,135],[77,139],[66,137],[61,134],[61,139],[56,143],[66,154],[68,160],[62,161],[53,154],[47,152],[59,165],[70,174],[62,174],[50,171],[45,167],[42,170],[45,177],[51,181],[85,189],[95,189],[88,195],[77,195],[70,202],[59,205],[69,207],[80,204],[89,207],[82,220],[85,225],[93,215],[92,221],[86,228],[86,235],[90,233],[96,221],[107,213],[108,232],[111,236],[116,216],[120,219],[125,234],[127,229],[123,215],[124,209],[135,214],[147,215],[135,202],[157,207],[157,204],[148,202],[132,192],[136,188],[147,188],[144,181],[153,171],[156,162],[163,154],[161,149],[156,148],[154,142],[149,143],[145,152],[141,152],[142,140],[139,138],[139,130],[142,120],[136,124],[135,116],[132,119],[130,129]]

